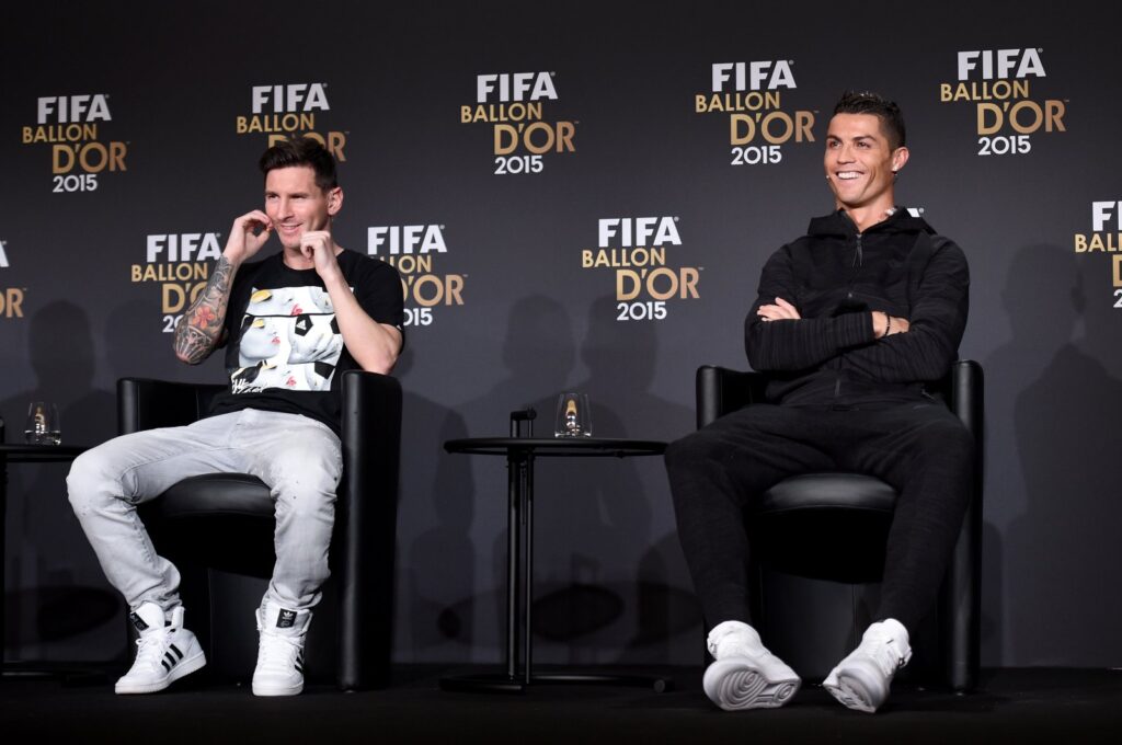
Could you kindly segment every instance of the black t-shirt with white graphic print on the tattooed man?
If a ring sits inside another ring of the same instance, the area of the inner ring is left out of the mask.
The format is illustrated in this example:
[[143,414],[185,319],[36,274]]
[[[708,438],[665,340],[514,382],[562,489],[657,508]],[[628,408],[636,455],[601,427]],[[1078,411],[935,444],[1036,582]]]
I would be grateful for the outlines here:
[[[320,275],[289,269],[282,257],[242,265],[234,276],[226,314],[230,388],[215,396],[210,413],[303,414],[338,434],[341,374],[359,366],[343,344]],[[344,250],[339,268],[367,315],[402,329],[402,284],[394,267]]]

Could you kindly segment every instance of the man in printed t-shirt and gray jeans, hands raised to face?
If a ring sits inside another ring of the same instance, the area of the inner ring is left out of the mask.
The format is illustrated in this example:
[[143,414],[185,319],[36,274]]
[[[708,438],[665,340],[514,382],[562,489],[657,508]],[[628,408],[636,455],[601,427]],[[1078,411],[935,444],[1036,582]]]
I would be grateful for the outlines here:
[[[276,503],[276,563],[257,610],[252,691],[304,688],[303,650],[328,578],[342,371],[387,374],[402,348],[397,272],[335,243],[343,191],[331,155],[297,138],[260,160],[265,209],[233,221],[206,287],[175,331],[175,352],[196,365],[226,346],[229,389],[190,426],[128,434],[74,461],[71,504],[139,633],[118,693],[153,693],[205,664],[184,626],[180,573],[156,553],[136,505],[184,478],[250,473]],[[282,251],[250,263],[276,233]],[[206,536],[199,536],[205,541]]]

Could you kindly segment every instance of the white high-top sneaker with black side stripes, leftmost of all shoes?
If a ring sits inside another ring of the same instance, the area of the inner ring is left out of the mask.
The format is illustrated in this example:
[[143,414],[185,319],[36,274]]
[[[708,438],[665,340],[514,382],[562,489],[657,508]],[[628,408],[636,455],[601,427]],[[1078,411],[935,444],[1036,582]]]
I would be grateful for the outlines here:
[[155,693],[206,664],[199,640],[183,627],[183,606],[165,614],[155,603],[142,603],[129,620],[140,637],[136,661],[113,688],[118,693]]

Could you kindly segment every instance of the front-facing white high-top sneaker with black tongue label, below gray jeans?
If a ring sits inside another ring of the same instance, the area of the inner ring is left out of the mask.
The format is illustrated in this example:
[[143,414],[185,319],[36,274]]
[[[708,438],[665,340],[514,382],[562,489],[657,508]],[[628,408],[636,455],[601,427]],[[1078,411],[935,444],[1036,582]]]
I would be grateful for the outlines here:
[[254,696],[295,696],[304,690],[304,638],[311,610],[266,603],[257,609],[257,666]]

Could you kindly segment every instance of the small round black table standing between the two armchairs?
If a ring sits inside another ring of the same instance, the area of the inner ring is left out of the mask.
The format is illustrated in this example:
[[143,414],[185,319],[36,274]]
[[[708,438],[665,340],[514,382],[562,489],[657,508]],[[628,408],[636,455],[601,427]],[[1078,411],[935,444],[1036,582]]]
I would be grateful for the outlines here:
[[[512,433],[516,432],[512,421]],[[444,450],[469,456],[505,456],[507,463],[506,672],[443,678],[447,691],[522,692],[532,683],[604,683],[666,690],[665,678],[603,674],[534,674],[531,605],[534,570],[534,459],[661,456],[665,442],[616,438],[468,438],[449,440]],[[518,651],[522,647],[522,664]]]

